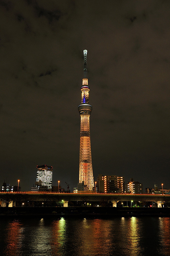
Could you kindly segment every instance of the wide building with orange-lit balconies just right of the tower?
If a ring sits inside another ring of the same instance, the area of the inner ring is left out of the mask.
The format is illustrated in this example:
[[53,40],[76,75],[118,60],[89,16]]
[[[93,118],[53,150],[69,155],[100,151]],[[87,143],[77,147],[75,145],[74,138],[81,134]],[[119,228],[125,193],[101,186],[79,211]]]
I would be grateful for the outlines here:
[[124,177],[116,175],[103,176],[99,174],[97,177],[97,191],[104,193],[124,193]]

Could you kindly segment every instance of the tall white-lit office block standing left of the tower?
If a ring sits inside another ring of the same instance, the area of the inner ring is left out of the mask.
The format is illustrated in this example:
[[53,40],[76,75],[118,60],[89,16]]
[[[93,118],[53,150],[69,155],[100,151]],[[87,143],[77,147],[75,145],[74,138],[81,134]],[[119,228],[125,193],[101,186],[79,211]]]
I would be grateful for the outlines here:
[[41,181],[42,186],[47,186],[48,189],[52,188],[52,166],[37,165],[36,182]]

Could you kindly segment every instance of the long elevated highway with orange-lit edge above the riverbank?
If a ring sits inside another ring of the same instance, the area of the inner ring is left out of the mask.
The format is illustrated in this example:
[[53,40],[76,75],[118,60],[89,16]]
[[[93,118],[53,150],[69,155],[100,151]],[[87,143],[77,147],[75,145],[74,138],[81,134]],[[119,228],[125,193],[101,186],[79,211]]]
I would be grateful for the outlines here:
[[100,193],[55,193],[55,192],[0,192],[1,206],[16,206],[19,204],[25,204],[25,202],[34,201],[55,201],[63,202],[64,207],[68,207],[69,201],[89,201],[89,202],[100,202],[108,201],[112,202],[113,207],[117,206],[119,201],[133,201],[133,202],[155,202],[158,207],[162,207],[162,203],[170,202],[170,195],[163,194],[100,194]]

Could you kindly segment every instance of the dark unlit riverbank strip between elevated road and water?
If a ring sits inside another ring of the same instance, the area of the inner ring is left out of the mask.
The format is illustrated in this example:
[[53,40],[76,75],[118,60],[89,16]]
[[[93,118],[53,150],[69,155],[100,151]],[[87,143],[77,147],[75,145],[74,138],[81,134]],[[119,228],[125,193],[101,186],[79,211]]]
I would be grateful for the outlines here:
[[2,216],[170,216],[170,208],[146,207],[1,207]]

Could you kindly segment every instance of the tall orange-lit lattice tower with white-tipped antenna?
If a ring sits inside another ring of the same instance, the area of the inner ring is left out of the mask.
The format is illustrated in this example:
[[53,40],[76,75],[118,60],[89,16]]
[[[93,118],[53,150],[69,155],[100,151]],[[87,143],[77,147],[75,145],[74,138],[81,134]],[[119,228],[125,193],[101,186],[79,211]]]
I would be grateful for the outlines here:
[[81,87],[82,104],[78,106],[81,117],[80,125],[80,163],[79,163],[79,183],[84,181],[87,185],[87,190],[92,191],[94,187],[93,169],[91,160],[91,145],[90,145],[90,114],[92,106],[89,104],[89,91],[87,75],[87,50],[84,53],[84,78]]

